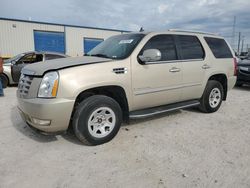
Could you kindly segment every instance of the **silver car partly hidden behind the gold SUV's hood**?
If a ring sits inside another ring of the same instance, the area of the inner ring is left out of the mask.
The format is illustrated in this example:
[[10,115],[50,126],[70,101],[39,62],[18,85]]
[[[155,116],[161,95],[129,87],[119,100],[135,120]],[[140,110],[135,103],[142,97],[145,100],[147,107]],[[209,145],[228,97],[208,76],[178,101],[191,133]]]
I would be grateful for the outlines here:
[[24,66],[36,63],[39,61],[46,61],[58,58],[69,57],[65,54],[55,53],[55,52],[37,52],[31,51],[26,53],[21,53],[13,58],[4,60],[3,68],[4,72],[1,75],[3,87],[7,85],[17,84],[21,75],[21,70]]

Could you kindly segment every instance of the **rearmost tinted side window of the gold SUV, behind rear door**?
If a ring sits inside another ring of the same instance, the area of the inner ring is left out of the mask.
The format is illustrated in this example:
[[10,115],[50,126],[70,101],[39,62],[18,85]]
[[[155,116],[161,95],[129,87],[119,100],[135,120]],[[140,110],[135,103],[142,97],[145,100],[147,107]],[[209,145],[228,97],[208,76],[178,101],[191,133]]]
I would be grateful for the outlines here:
[[216,58],[232,58],[231,50],[229,49],[224,39],[205,37],[205,40]]

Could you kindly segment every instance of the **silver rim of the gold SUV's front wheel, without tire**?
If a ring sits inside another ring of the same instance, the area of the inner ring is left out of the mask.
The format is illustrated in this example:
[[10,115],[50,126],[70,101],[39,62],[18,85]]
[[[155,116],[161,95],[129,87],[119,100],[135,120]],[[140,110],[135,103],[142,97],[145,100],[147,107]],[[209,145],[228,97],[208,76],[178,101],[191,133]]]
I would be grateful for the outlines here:
[[115,127],[116,117],[112,109],[100,107],[96,109],[88,120],[88,131],[96,138],[106,137]]

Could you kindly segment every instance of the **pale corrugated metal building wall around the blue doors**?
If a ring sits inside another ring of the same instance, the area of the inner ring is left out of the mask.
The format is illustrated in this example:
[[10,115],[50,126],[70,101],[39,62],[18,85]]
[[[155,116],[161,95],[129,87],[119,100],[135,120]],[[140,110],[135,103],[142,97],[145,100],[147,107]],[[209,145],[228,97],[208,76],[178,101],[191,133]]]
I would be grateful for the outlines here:
[[84,37],[106,39],[112,35],[121,34],[120,31],[0,19],[0,53],[2,56],[14,56],[35,50],[34,31],[64,32],[65,53],[70,56],[83,55]]

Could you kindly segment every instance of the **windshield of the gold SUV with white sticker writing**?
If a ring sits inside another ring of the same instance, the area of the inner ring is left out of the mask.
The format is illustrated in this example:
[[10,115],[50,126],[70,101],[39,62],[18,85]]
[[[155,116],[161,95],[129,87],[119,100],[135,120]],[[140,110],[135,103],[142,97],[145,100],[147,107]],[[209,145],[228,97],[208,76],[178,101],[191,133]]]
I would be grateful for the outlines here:
[[87,56],[125,59],[135,49],[144,34],[123,34],[108,38],[92,49]]

